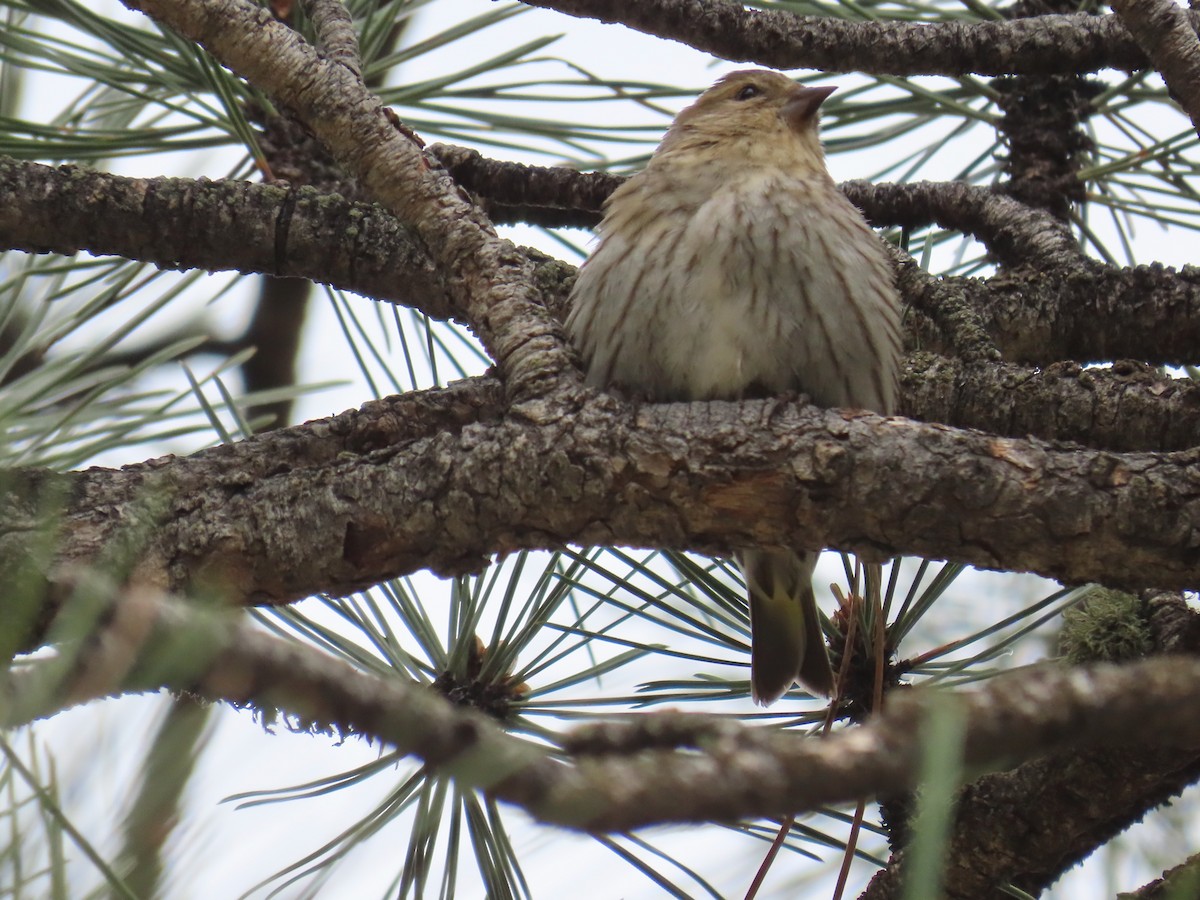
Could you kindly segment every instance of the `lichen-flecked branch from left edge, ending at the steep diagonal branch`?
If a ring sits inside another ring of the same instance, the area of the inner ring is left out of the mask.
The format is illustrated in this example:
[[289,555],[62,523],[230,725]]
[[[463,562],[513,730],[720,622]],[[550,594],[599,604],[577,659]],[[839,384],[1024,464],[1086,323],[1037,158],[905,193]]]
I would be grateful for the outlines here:
[[0,156],[0,245],[80,250],[162,269],[308,278],[415,306],[461,311],[415,232],[380,206],[311,187],[133,179]]

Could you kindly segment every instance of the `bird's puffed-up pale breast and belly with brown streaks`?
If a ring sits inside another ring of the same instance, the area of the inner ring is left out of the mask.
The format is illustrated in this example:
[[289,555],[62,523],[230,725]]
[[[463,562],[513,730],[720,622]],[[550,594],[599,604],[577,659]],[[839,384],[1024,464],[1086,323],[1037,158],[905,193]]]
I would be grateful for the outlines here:
[[798,390],[890,410],[890,270],[830,181],[750,174],[686,211],[662,205],[606,230],[581,272],[570,325],[586,332],[593,383],[659,400]]

